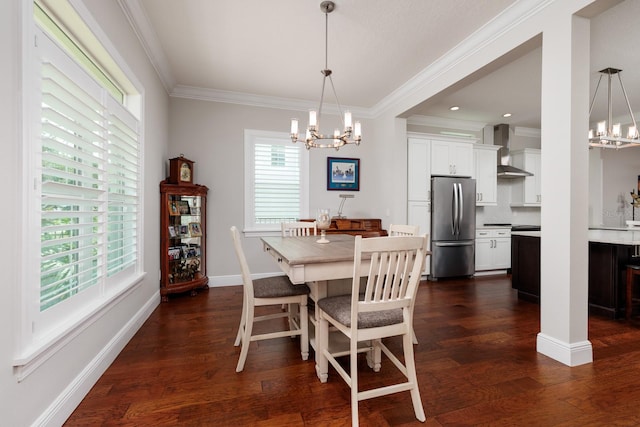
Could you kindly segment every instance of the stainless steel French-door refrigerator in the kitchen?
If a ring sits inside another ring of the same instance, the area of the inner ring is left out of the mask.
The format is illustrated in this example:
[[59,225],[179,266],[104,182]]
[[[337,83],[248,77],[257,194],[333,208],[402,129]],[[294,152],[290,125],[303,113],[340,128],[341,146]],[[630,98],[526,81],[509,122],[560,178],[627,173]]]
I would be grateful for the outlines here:
[[473,276],[475,272],[476,180],[431,178],[431,274]]

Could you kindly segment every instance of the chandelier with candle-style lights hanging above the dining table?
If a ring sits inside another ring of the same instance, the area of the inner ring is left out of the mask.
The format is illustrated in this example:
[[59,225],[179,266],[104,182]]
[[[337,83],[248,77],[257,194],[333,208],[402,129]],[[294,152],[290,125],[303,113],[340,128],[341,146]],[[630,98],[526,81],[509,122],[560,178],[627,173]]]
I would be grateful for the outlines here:
[[[332,1],[323,1],[322,3],[320,3],[320,10],[322,10],[325,16],[324,70],[320,71],[324,77],[322,78],[320,106],[318,107],[317,111],[309,111],[309,124],[307,125],[304,140],[298,138],[298,119],[291,119],[291,141],[293,141],[294,143],[298,141],[304,141],[304,145],[307,150],[310,148],[335,148],[336,150],[338,150],[340,149],[340,147],[347,144],[359,145],[362,139],[362,128],[360,122],[353,123],[350,111],[345,111],[344,115],[342,114],[342,107],[340,106],[340,102],[338,101],[336,88],[333,86],[331,70],[327,65],[327,58],[329,56],[329,13],[331,13],[334,9],[335,4]],[[338,112],[340,113],[340,116],[342,118],[343,127],[342,132],[340,132],[339,129],[336,129],[334,130],[332,135],[325,135],[320,132],[320,117],[322,114],[322,103],[324,101],[324,89],[327,83],[327,78],[329,78],[331,90],[333,91],[333,96],[335,97],[336,104],[338,105]]]

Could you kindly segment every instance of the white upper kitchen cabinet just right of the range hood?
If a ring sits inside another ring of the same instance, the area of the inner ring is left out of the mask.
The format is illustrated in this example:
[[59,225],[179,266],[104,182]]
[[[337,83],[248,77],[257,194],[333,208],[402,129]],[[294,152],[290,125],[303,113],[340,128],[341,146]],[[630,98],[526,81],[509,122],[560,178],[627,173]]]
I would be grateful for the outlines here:
[[511,206],[540,207],[542,203],[541,159],[540,150],[535,148],[525,148],[511,152],[511,164],[533,174],[533,176],[514,181],[511,187]]

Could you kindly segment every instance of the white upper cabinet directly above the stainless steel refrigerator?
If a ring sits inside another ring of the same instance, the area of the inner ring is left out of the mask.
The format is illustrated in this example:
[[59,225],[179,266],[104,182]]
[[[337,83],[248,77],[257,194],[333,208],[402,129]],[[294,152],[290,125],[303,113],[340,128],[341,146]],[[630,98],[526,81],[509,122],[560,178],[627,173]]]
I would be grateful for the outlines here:
[[432,140],[431,174],[471,176],[473,174],[473,144]]

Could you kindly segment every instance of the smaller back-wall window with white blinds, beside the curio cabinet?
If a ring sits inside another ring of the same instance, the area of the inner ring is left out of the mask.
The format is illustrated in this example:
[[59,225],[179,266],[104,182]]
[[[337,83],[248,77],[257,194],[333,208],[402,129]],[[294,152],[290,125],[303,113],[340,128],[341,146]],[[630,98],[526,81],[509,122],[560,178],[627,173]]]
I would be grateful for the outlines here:
[[308,216],[308,158],[287,133],[245,130],[245,232]]

